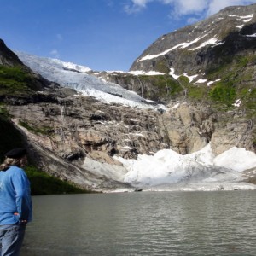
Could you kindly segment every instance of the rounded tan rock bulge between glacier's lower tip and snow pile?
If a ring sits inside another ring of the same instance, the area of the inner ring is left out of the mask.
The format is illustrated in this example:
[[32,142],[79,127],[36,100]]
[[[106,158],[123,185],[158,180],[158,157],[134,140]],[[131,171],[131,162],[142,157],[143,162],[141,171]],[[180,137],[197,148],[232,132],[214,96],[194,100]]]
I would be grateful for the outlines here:
[[210,142],[215,115],[211,108],[188,103],[170,105],[160,118],[162,134],[166,132],[170,147],[179,154],[200,150]]

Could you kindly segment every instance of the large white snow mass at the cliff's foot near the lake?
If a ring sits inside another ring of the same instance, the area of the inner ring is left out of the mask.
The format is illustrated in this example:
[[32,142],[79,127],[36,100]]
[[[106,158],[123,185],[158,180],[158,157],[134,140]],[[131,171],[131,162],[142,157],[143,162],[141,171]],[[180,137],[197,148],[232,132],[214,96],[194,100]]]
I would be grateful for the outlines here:
[[127,170],[124,182],[148,188],[172,183],[237,183],[242,171],[256,167],[253,152],[234,147],[215,157],[210,144],[193,154],[163,149],[154,155],[139,154],[137,160],[117,160]]

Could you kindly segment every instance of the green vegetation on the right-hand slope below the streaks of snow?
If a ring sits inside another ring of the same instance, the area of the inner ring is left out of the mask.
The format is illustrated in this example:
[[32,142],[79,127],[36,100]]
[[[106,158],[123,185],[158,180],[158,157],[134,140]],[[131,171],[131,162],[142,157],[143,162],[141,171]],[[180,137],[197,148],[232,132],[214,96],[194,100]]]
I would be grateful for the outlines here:
[[236,100],[241,100],[241,108],[247,114],[255,114],[256,88],[253,83],[255,55],[223,57],[220,63],[207,69],[207,80],[217,80],[211,86],[190,84],[189,79],[180,76],[177,81],[183,95],[192,101],[207,101],[217,109],[235,108]]

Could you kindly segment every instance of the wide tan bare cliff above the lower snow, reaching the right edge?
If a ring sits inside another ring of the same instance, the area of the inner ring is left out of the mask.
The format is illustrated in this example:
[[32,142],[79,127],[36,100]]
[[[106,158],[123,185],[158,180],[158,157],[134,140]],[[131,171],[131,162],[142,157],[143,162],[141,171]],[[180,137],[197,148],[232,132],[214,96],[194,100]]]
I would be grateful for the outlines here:
[[161,135],[166,134],[170,148],[190,154],[211,143],[218,155],[232,147],[255,152],[253,118],[242,111],[213,112],[209,106],[182,103],[170,105],[160,117]]

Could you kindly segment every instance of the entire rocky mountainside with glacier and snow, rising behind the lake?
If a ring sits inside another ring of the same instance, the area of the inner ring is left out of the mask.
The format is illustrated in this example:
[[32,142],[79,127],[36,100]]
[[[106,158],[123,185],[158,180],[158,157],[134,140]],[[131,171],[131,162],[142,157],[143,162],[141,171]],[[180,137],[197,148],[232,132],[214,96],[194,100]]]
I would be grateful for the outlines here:
[[[0,121],[13,125],[2,138],[19,131],[34,165],[82,188],[255,189],[254,9],[161,37],[129,73],[0,45]],[[11,91],[17,67],[41,86]]]

